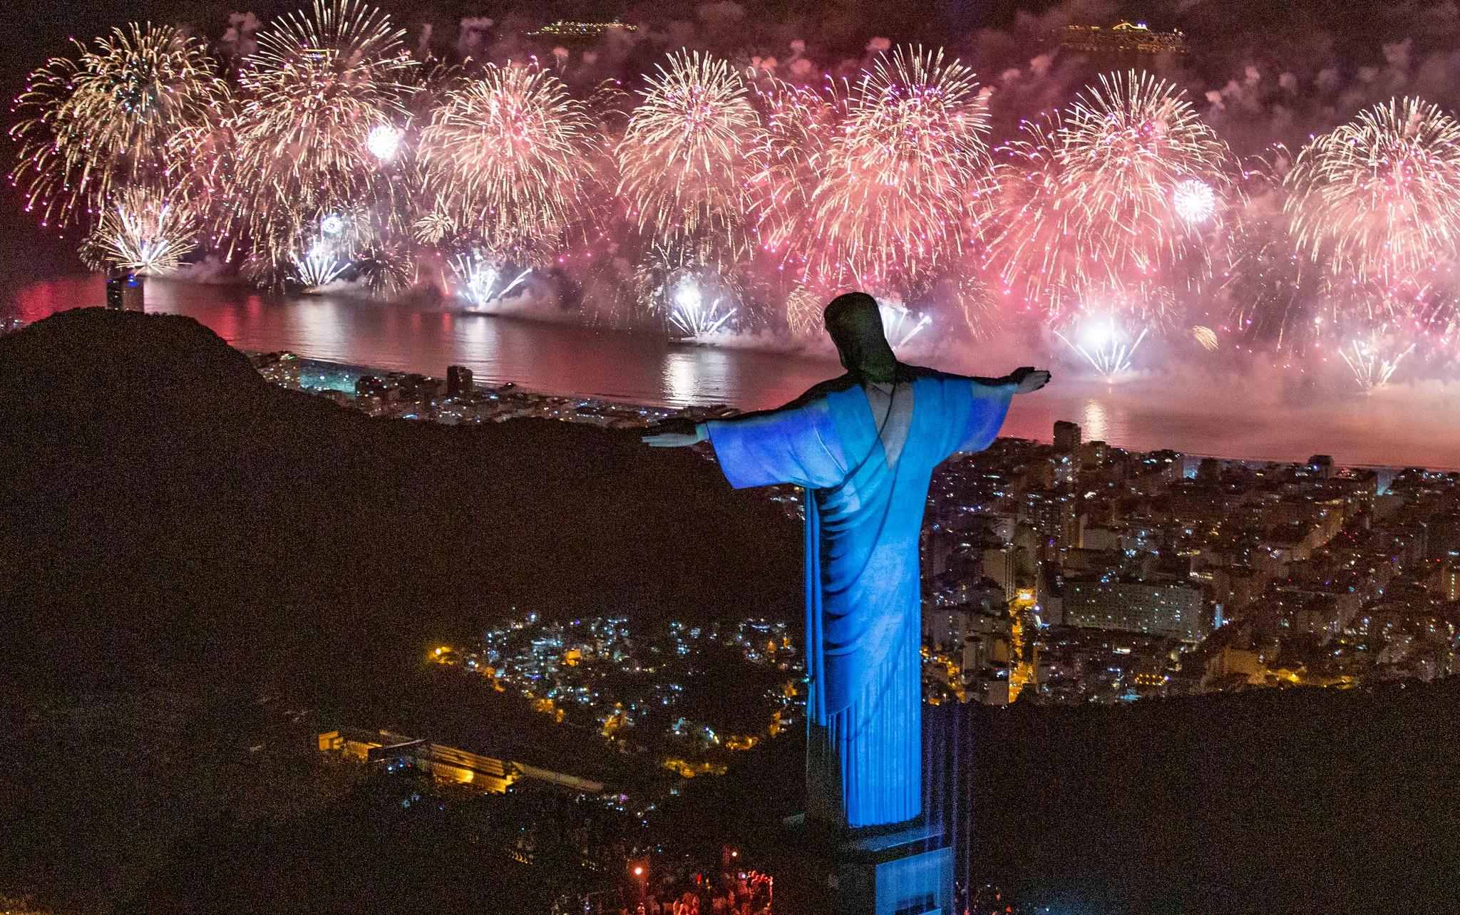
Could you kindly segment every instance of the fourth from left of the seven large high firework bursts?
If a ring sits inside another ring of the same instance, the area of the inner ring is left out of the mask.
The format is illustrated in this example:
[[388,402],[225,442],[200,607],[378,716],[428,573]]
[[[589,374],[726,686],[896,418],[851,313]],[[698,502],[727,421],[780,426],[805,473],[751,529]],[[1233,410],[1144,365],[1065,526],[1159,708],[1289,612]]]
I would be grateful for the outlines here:
[[724,60],[677,53],[642,96],[615,150],[631,219],[658,244],[740,248],[759,124],[745,80]]

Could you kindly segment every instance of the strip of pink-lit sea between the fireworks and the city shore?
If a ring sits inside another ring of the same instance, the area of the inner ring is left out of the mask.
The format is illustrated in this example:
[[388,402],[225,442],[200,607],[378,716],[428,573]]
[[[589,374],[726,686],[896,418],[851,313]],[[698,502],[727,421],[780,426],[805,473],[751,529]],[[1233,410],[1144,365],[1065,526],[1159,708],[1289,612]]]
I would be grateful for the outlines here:
[[[25,286],[10,304],[12,314],[36,321],[102,299],[99,277],[70,277]],[[146,306],[190,315],[245,350],[288,349],[315,359],[434,375],[448,365],[466,365],[486,382],[515,381],[529,390],[638,403],[765,409],[841,371],[823,358],[680,346],[642,334],[429,305],[345,296],[279,299],[241,286],[152,280]],[[990,362],[977,371],[1002,374],[1018,365]],[[1234,378],[1219,387],[1183,384],[1175,377],[1108,387],[1057,372],[1048,390],[1016,401],[1004,433],[1048,439],[1054,420],[1070,419],[1080,423],[1086,441],[1134,449],[1264,460],[1329,452],[1349,464],[1460,467],[1460,397],[1448,388],[1416,394],[1396,387],[1371,397],[1304,394],[1296,404],[1270,384]]]

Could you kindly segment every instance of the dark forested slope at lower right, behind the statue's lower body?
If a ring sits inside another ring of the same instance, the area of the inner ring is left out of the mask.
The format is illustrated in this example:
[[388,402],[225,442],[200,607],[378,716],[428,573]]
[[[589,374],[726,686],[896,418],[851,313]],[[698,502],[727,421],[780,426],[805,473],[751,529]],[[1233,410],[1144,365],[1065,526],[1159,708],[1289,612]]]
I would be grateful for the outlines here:
[[[1460,912],[1460,677],[924,711],[924,803],[955,838],[955,873],[1019,911]],[[777,823],[804,794],[764,785],[784,785],[803,747],[777,740],[696,781],[669,832],[784,860]]]

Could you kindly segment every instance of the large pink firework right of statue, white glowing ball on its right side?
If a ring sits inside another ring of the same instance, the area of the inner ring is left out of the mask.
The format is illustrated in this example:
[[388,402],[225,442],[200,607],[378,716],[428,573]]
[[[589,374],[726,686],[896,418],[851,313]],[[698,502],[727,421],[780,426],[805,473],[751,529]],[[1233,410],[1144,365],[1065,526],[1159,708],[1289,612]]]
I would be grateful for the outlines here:
[[1089,289],[1209,273],[1199,229],[1229,190],[1229,153],[1180,89],[1102,74],[1021,130],[999,150],[987,267],[1026,305],[1057,315]]

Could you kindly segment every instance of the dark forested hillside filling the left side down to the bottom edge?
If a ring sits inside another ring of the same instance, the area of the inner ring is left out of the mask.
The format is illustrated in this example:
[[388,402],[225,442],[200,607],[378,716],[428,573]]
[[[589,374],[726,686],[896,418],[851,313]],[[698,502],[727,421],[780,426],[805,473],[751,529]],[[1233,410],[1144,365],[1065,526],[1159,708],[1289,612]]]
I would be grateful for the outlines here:
[[[187,318],[55,315],[0,339],[0,893],[196,911],[228,876],[248,911],[521,896],[530,874],[458,841],[371,830],[310,724],[618,782],[641,771],[423,665],[428,646],[531,610],[787,619],[799,579],[794,524],[696,454],[375,420],[266,384]],[[548,905],[521,902],[502,911]]]

